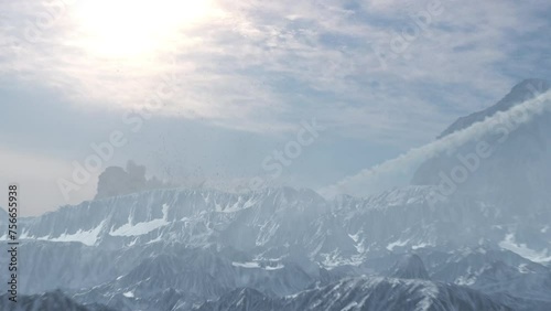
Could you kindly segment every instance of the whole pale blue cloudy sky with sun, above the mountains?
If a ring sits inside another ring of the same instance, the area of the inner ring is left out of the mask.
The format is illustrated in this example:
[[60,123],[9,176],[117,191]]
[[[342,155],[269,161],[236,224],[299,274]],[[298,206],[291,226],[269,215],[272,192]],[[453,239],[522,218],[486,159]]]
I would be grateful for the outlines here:
[[551,79],[543,0],[0,7],[0,184],[22,215],[128,160],[184,186],[324,189]]

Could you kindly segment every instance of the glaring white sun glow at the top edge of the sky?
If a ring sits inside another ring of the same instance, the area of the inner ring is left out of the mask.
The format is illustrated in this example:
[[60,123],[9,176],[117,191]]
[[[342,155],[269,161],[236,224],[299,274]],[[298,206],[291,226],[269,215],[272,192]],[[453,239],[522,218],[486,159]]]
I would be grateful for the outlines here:
[[89,0],[75,17],[89,53],[137,57],[170,47],[180,31],[213,13],[212,0]]

